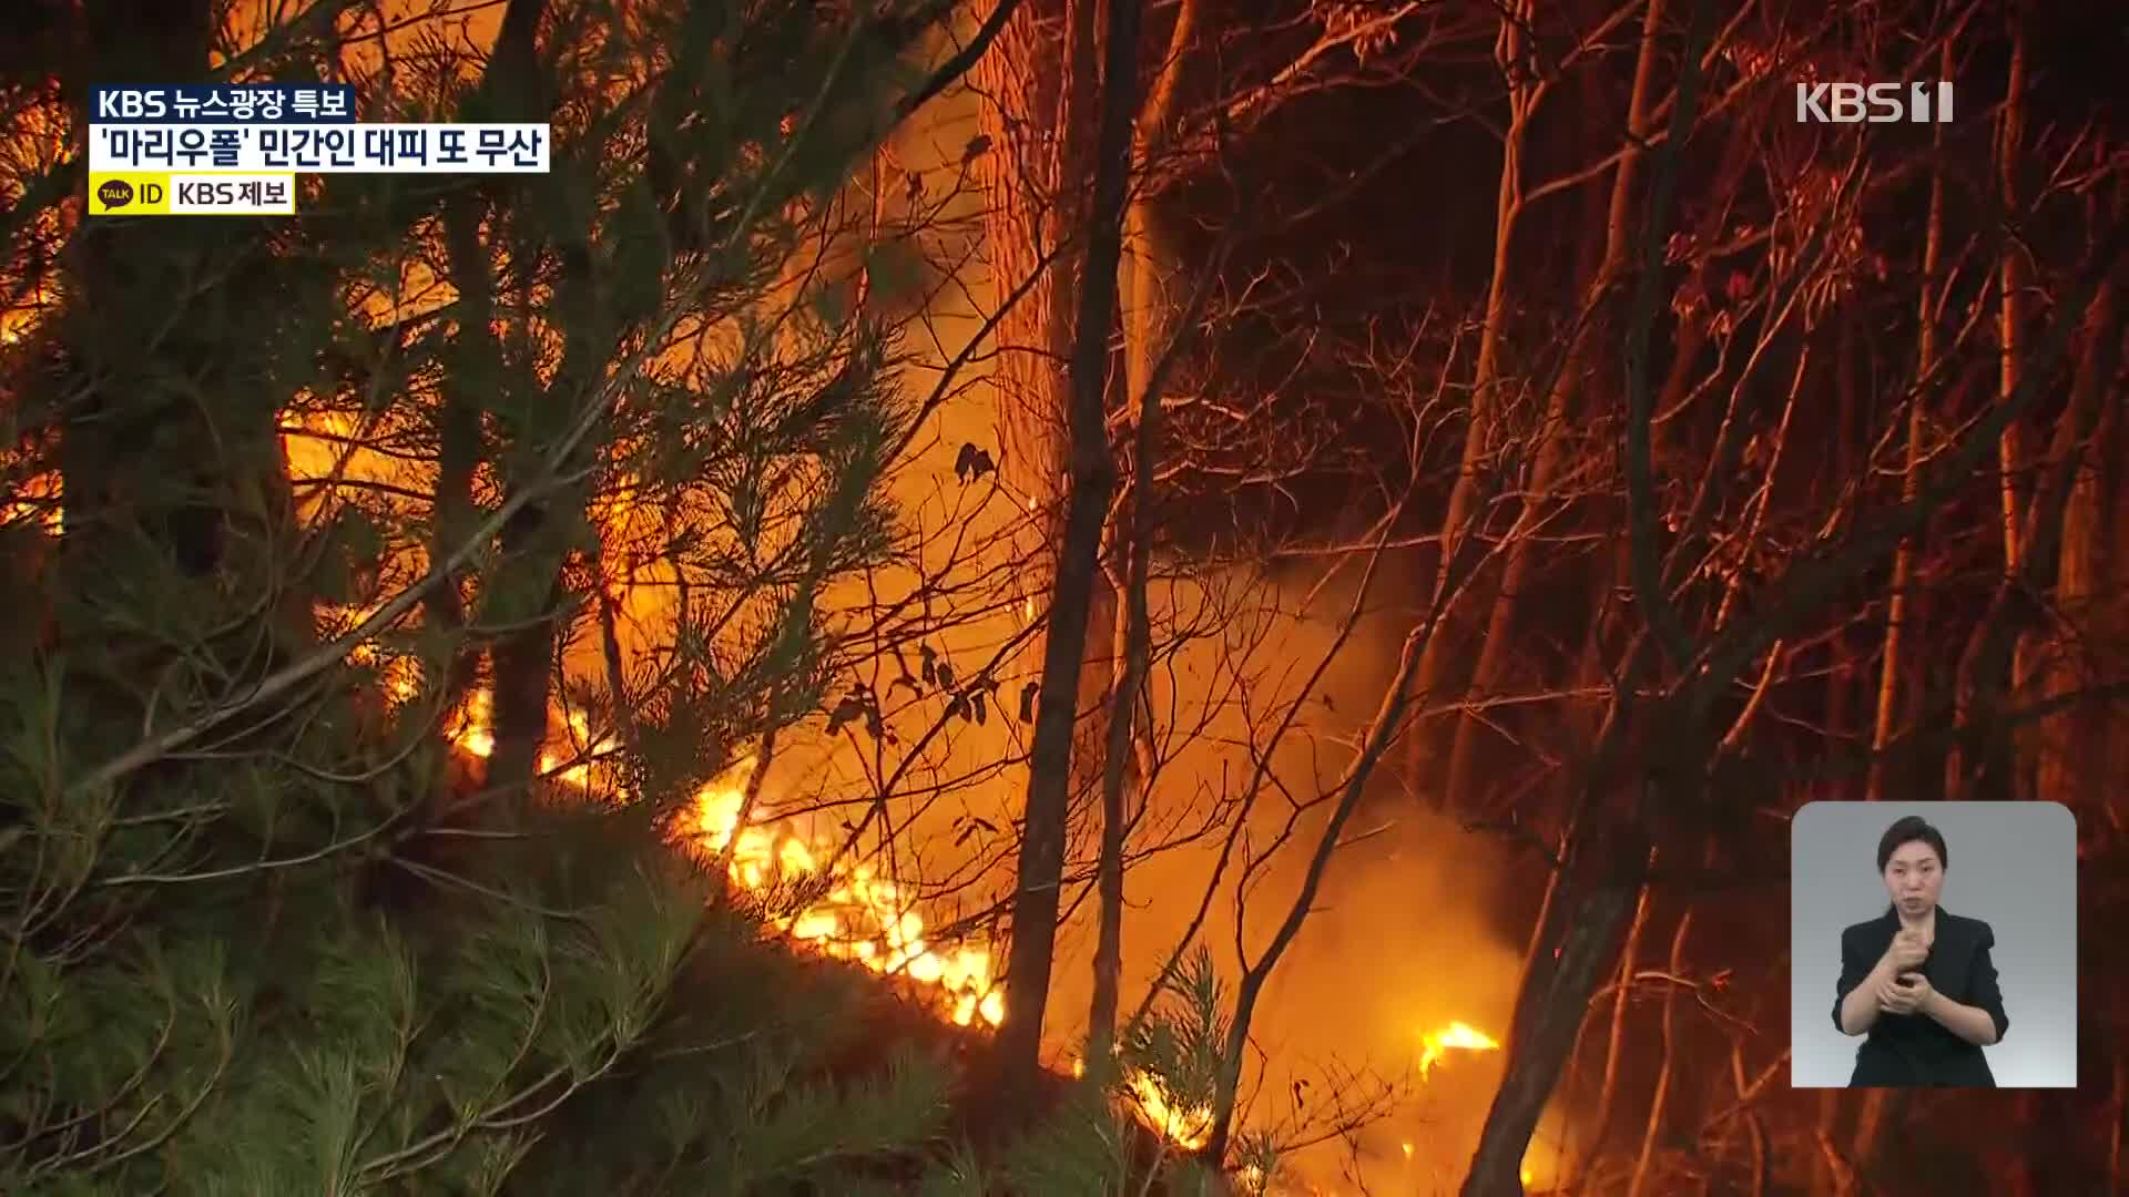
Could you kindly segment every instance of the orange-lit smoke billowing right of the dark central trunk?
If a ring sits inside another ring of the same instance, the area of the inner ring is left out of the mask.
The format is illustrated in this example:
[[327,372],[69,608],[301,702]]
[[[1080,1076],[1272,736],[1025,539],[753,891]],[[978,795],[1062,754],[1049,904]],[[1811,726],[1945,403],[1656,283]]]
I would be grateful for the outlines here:
[[[1209,811],[1250,805],[1218,882],[1218,831],[1130,867],[1126,1016],[1201,905],[1196,941],[1214,950],[1231,997],[1262,956],[1392,684],[1414,620],[1399,598],[1420,577],[1420,562],[1386,558],[1358,609],[1352,560],[1328,579],[1322,571],[1224,571],[1169,581],[1152,596],[1156,639],[1177,624],[1205,635],[1175,647],[1156,671],[1154,707],[1177,739],[1188,739],[1165,743],[1169,760],[1148,794],[1139,839],[1148,839],[1143,826],[1192,826]],[[1252,794],[1265,745],[1288,714]],[[1250,1022],[1241,1125],[1286,1142],[1328,1135],[1288,1157],[1294,1180],[1454,1188],[1501,1078],[1501,1054],[1450,1050],[1422,1078],[1422,1035],[1467,1022],[1505,1037],[1522,944],[1503,933],[1497,907],[1503,888],[1544,882],[1495,839],[1418,809],[1401,750],[1377,765]],[[1058,1050],[1084,1035],[1092,929],[1088,905],[1060,941],[1052,988]],[[1356,1127],[1360,1120],[1367,1125]]]

